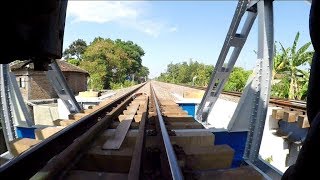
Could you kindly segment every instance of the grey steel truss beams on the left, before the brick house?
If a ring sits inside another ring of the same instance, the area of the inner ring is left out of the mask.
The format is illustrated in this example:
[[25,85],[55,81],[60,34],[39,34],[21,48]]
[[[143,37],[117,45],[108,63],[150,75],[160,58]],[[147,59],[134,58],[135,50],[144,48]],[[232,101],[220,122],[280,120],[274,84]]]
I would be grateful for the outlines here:
[[[49,82],[70,113],[82,110],[69,88],[56,60],[52,60],[46,73]],[[34,125],[28,108],[22,98],[16,76],[10,72],[9,64],[0,64],[0,121],[3,136],[9,149],[9,141],[18,137],[16,126]]]

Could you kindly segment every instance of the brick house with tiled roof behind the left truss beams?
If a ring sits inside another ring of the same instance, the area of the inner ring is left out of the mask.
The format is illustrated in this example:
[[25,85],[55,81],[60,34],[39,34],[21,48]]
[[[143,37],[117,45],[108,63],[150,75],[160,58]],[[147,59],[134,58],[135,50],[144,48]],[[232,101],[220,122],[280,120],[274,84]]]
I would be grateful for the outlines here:
[[[63,60],[57,63],[74,94],[87,90],[89,73]],[[10,70],[16,75],[18,86],[25,100],[57,98],[57,94],[50,84],[46,71],[34,71],[33,64],[17,62],[10,65]]]

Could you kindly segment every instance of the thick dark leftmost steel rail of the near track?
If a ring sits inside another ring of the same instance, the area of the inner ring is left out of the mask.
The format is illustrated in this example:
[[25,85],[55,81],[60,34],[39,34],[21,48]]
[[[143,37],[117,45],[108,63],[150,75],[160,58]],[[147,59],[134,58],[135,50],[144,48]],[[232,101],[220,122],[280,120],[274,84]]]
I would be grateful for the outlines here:
[[[144,83],[145,84],[145,83]],[[125,98],[140,89],[144,84],[120,96],[107,106],[97,110],[90,116],[85,116],[77,122],[62,129],[56,134],[43,140],[38,145],[25,151],[18,157],[0,167],[0,179],[28,179],[38,172],[55,155],[66,149],[76,138],[105,117],[106,112],[120,104]]]

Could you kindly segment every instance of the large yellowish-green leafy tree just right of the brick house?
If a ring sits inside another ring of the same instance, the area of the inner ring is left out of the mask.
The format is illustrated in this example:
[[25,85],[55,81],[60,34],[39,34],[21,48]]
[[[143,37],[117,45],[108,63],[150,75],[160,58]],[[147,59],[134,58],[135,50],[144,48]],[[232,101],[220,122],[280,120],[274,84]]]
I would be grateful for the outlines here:
[[143,49],[131,41],[97,37],[86,48],[83,61],[99,61],[99,65],[105,69],[105,76],[100,77],[103,88],[110,88],[111,83],[124,83],[127,76],[137,74],[143,67],[143,55]]

